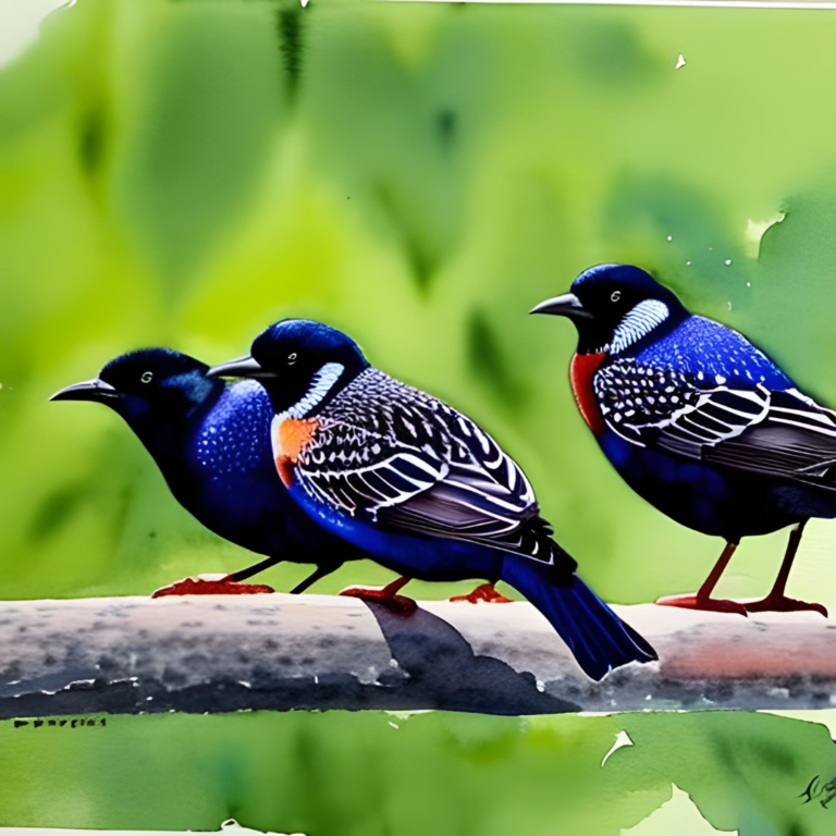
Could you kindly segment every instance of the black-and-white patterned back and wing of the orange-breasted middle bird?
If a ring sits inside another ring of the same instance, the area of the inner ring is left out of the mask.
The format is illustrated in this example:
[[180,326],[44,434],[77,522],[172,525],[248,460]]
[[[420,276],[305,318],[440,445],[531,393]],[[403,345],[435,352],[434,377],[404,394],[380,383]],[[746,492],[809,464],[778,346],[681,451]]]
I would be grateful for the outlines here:
[[519,466],[442,401],[368,369],[317,419],[297,474],[320,501],[395,530],[563,558]]

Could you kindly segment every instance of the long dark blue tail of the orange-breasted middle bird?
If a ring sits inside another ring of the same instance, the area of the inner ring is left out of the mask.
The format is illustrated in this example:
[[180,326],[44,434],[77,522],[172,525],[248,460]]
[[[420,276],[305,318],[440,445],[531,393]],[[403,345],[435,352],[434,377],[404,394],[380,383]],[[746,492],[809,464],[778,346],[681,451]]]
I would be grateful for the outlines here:
[[602,679],[628,662],[652,662],[653,648],[625,624],[579,577],[554,581],[554,567],[505,556],[502,579],[521,592],[551,623],[587,676]]

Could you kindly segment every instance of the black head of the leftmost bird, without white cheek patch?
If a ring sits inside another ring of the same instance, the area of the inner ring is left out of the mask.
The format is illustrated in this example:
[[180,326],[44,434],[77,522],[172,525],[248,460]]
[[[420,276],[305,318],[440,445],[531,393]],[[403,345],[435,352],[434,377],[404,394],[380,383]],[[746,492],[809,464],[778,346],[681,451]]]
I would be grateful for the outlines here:
[[50,401],[106,404],[143,435],[144,430],[181,425],[213,392],[222,390],[220,381],[207,379],[208,370],[205,362],[186,354],[144,348],[112,359],[98,378],[66,386]]

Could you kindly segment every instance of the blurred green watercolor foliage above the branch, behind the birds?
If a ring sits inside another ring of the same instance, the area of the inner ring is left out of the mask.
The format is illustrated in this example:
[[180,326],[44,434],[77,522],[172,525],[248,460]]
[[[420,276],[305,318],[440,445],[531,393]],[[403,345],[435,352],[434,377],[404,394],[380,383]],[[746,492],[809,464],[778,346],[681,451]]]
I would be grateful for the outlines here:
[[[527,311],[591,263],[637,262],[836,404],[834,36],[827,12],[50,15],[0,71],[0,594],[143,593],[247,564],[114,415],[46,398],[139,346],[225,359],[285,316],[345,329],[483,423],[604,597],[693,589],[720,543],[615,476],[571,403],[570,325]],[[784,538],[747,541],[722,591],[765,592]],[[834,539],[812,527],[792,593],[836,603]],[[385,577],[355,565],[318,589]]]

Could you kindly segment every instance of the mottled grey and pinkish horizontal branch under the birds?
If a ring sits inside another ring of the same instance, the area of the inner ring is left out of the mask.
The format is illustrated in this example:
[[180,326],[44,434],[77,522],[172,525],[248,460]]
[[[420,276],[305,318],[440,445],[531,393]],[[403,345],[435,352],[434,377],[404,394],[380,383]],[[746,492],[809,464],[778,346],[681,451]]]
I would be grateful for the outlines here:
[[0,603],[0,717],[242,709],[495,714],[836,704],[836,623],[615,607],[660,654],[592,683],[527,603],[332,595]]

